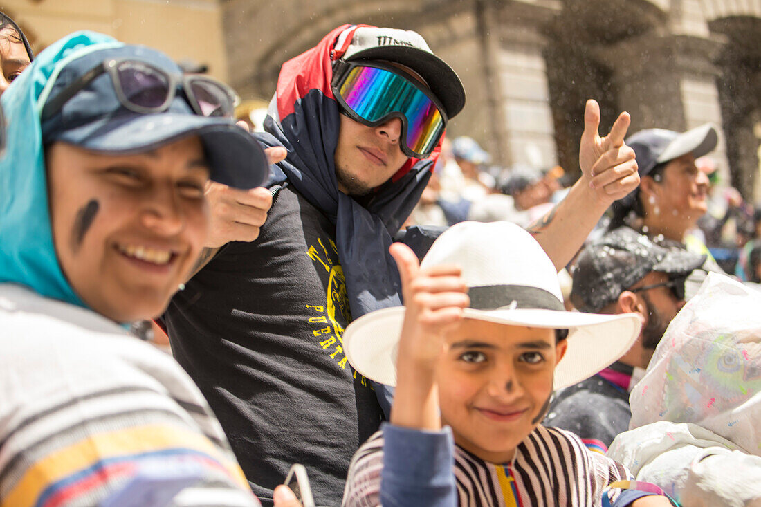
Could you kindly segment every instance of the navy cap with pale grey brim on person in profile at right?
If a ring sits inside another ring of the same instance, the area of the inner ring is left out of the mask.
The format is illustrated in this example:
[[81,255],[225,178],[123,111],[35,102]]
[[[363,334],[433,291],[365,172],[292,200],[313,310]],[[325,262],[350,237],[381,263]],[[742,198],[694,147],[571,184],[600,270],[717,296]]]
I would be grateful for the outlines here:
[[[692,153],[695,158],[708,155],[718,143],[718,131],[712,123],[704,123],[687,132],[667,129],[646,129],[636,132],[626,139],[637,160],[639,177],[648,176],[654,167],[664,162]],[[613,202],[616,212],[632,209],[637,199],[639,187],[626,197]]]

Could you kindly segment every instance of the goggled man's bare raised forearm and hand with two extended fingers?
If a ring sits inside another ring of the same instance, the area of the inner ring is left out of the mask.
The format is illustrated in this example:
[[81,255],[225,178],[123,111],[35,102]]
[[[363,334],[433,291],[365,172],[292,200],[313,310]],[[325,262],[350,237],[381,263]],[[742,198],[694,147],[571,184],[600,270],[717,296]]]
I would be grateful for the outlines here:
[[608,206],[639,184],[634,150],[623,141],[630,122],[629,113],[621,113],[610,133],[600,137],[600,106],[587,100],[578,155],[581,177],[562,202],[527,228],[558,270],[581,248]]

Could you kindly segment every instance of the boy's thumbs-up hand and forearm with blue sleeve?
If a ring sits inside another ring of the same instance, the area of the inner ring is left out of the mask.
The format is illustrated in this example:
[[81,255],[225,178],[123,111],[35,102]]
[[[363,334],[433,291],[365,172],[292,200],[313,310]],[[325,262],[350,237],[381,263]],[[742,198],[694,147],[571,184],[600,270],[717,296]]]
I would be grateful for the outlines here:
[[396,359],[391,424],[383,427],[383,472],[378,498],[384,507],[452,507],[454,440],[441,429],[435,371],[444,337],[470,305],[458,266],[420,269],[403,244],[390,252],[402,277],[406,314]]

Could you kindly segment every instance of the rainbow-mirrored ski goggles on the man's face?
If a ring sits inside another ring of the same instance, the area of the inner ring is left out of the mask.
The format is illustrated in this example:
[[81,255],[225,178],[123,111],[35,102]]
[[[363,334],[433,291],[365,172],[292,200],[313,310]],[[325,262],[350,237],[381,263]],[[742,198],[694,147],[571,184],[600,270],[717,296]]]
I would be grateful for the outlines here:
[[408,157],[431,155],[447,126],[444,107],[431,91],[391,65],[339,60],[333,68],[331,88],[352,120],[378,126],[400,118],[400,146]]

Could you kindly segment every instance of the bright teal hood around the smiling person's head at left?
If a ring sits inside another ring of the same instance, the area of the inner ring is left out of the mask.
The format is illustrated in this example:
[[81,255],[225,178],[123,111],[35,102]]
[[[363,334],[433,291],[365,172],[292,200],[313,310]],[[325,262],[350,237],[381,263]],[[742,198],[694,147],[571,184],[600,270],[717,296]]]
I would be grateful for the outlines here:
[[0,160],[0,283],[26,285],[47,298],[87,308],[66,279],[53,245],[40,111],[49,85],[69,61],[119,46],[123,43],[100,33],[72,33],[48,46],[2,94],[8,143]]

